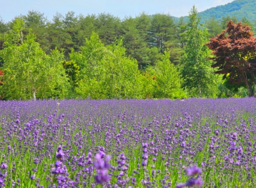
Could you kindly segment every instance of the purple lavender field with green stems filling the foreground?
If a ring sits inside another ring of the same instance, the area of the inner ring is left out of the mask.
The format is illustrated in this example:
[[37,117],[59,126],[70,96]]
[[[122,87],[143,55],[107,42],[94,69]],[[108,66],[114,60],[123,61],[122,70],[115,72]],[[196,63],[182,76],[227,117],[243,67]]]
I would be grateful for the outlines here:
[[251,188],[255,118],[255,98],[0,101],[0,188]]

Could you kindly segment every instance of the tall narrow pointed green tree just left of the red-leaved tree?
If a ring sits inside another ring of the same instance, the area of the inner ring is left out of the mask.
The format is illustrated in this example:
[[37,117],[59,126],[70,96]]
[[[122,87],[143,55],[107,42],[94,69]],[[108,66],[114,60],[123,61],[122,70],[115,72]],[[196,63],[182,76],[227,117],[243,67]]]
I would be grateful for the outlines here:
[[182,63],[183,87],[189,90],[191,96],[210,97],[214,92],[212,86],[216,85],[209,61],[211,51],[205,45],[208,41],[208,32],[199,24],[195,6],[189,12],[187,31],[182,37],[185,41],[184,58]]

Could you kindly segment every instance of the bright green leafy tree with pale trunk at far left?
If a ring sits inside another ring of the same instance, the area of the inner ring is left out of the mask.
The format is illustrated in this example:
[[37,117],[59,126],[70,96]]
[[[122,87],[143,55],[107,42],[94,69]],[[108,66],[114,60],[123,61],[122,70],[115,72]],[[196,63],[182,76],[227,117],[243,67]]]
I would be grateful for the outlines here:
[[63,98],[68,87],[68,79],[61,65],[63,55],[53,50],[46,55],[35,42],[30,32],[23,38],[24,21],[14,20],[13,30],[5,38],[0,56],[4,84],[1,94],[5,99]]

